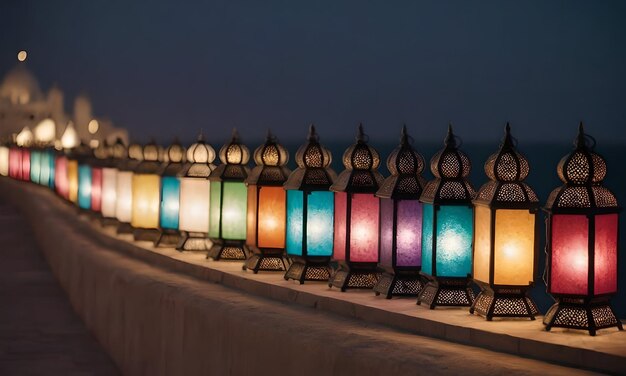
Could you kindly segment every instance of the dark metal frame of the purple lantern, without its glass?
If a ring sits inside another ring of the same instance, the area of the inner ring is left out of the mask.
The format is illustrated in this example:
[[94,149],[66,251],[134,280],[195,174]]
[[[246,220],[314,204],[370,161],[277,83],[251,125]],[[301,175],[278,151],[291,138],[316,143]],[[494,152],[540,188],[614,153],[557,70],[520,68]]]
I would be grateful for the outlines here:
[[[423,288],[419,274],[421,270],[421,262],[420,265],[411,266],[400,266],[397,263],[398,208],[401,205],[405,205],[407,202],[415,202],[420,205],[421,208],[422,204],[419,202],[419,197],[426,183],[424,178],[421,176],[421,172],[424,169],[424,158],[411,146],[409,139],[410,137],[407,134],[406,126],[403,126],[400,137],[400,145],[398,145],[398,147],[396,147],[387,158],[387,167],[391,172],[391,176],[383,181],[380,189],[376,192],[376,196],[378,196],[381,200],[381,233],[379,238],[381,239],[381,244],[383,237],[382,231],[385,225],[382,222],[383,200],[390,200],[390,204],[392,206],[390,249],[391,264],[383,264],[381,260],[379,267],[384,269],[385,272],[382,273],[380,279],[374,286],[374,292],[376,295],[383,294],[387,299],[391,299],[392,296],[417,297]],[[421,238],[421,218],[420,222],[415,223],[415,225],[419,226],[419,236]],[[421,255],[421,239],[420,247],[418,249],[413,249],[413,251],[419,252]]]

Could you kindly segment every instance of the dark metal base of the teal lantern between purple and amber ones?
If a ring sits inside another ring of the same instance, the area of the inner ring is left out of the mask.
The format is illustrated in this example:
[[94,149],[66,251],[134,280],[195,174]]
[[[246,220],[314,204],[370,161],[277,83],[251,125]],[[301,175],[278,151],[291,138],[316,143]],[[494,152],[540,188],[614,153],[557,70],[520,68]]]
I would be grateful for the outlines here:
[[474,290],[469,286],[469,277],[420,275],[426,284],[417,297],[417,305],[424,303],[428,308],[435,309],[438,306],[469,307],[474,303]]

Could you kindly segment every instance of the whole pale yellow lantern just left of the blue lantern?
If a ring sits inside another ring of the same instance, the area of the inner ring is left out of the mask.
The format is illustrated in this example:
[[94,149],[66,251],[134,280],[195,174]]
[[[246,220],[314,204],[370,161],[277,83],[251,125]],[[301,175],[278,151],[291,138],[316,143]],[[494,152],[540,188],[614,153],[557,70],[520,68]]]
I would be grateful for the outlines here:
[[132,183],[132,212],[130,224],[135,240],[154,242],[159,236],[159,207],[161,206],[161,177],[159,147],[151,142],[143,147],[142,160],[135,168]]

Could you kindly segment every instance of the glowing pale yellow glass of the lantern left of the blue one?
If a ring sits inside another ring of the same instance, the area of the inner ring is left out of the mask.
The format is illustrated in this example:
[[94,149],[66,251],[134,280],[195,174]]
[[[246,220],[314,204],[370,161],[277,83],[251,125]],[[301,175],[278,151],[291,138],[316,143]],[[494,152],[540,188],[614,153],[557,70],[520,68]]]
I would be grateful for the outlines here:
[[161,178],[153,174],[133,175],[133,210],[130,224],[135,228],[158,228]]

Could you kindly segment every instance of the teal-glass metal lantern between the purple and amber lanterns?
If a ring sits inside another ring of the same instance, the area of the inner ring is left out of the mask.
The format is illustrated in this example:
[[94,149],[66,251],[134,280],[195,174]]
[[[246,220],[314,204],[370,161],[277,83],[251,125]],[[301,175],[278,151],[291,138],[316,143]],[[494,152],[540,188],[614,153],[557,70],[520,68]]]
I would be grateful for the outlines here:
[[424,288],[417,304],[470,306],[474,188],[467,180],[470,160],[457,147],[452,126],[444,148],[430,160],[435,179],[420,196],[422,207],[422,271]]

